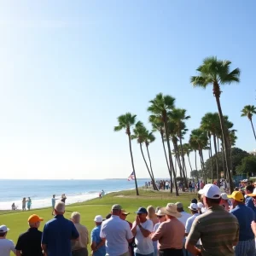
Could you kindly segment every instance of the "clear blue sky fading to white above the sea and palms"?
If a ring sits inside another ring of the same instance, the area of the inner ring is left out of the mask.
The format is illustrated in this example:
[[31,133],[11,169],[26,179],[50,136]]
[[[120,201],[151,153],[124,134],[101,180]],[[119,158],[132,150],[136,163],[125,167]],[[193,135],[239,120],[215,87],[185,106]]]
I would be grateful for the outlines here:
[[[0,3],[1,178],[111,178],[131,172],[120,114],[148,129],[148,101],[162,92],[191,119],[216,112],[212,87],[189,77],[211,55],[241,68],[222,87],[236,146],[252,151],[241,109],[255,104],[256,3],[242,1],[2,1]],[[160,137],[150,145],[156,177],[168,177]],[[189,139],[189,133],[184,142]],[[137,142],[137,177],[148,177]],[[195,166],[194,154],[191,154]]]

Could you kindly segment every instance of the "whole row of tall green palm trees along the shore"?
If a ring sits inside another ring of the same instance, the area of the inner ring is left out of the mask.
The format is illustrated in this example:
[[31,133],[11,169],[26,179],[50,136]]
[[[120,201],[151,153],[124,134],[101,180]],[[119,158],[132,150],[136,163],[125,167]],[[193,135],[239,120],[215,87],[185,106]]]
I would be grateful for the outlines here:
[[[222,93],[220,84],[231,84],[240,81],[240,69],[236,68],[230,71],[230,64],[230,61],[218,60],[217,57],[207,57],[203,60],[201,66],[196,69],[197,76],[192,76],[190,78],[190,82],[194,87],[207,88],[208,85],[212,85],[213,96],[215,96],[216,99],[218,113],[206,113],[201,119],[200,127],[191,131],[188,143],[183,143],[183,137],[189,131],[186,126],[186,120],[188,120],[190,116],[187,115],[186,109],[176,108],[175,98],[173,96],[159,93],[154,99],[149,101],[148,121],[152,125],[152,131],[148,131],[142,121],[137,121],[136,114],[125,113],[118,117],[118,125],[114,126],[114,131],[124,130],[128,136],[131,166],[135,177],[137,195],[139,195],[139,193],[137,189],[137,177],[131,140],[137,140],[143,156],[143,161],[148,170],[148,175],[151,178],[154,189],[157,189],[149,154],[149,145],[155,140],[154,132],[160,133],[163,153],[166,158],[166,169],[171,180],[171,193],[174,186],[176,195],[178,195],[176,165],[178,166],[181,180],[185,187],[188,187],[188,169],[185,164],[185,156],[188,157],[189,168],[192,172],[193,170],[190,164],[189,154],[193,151],[195,152],[195,170],[198,170],[198,157],[201,165],[202,178],[207,183],[203,150],[208,151],[209,159],[212,161],[212,148],[214,148],[214,153],[216,155],[216,170],[213,170],[213,165],[211,165],[212,179],[215,172],[219,180],[220,170],[217,162],[219,162],[218,158],[221,157],[224,166],[222,170],[224,171],[224,178],[229,180],[230,189],[233,191],[231,147],[236,143],[236,130],[233,129],[234,125],[230,122],[228,116],[223,114],[220,104],[220,95]],[[241,116],[247,116],[253,127],[252,116],[253,113],[256,113],[256,108],[247,105],[241,112]],[[253,133],[256,140],[254,128]],[[145,157],[143,145],[146,147],[148,160]],[[222,152],[221,155],[218,154],[220,149]]]

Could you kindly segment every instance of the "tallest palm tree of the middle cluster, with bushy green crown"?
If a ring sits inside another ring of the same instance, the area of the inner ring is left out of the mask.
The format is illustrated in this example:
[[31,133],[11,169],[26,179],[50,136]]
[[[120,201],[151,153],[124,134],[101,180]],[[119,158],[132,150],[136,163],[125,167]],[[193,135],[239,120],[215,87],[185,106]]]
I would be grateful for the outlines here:
[[178,195],[178,189],[177,189],[177,180],[176,180],[176,174],[174,172],[174,166],[172,161],[172,151],[171,151],[171,145],[170,145],[170,135],[167,128],[167,113],[172,111],[174,108],[174,102],[175,98],[169,95],[163,96],[162,93],[159,93],[155,96],[155,98],[149,103],[151,106],[148,107],[148,112],[151,112],[157,116],[159,116],[160,120],[165,125],[165,131],[166,131],[166,142],[167,142],[167,148],[168,148],[168,154],[169,154],[169,166],[170,166],[170,177],[171,177],[171,191],[172,191],[172,175],[173,175],[173,183],[175,185],[176,189],[176,195]]

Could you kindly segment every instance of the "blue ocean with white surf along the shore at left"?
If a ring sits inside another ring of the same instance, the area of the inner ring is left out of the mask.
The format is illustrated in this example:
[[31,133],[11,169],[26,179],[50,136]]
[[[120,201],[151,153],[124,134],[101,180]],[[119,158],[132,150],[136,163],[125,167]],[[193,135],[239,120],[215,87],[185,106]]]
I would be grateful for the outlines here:
[[[138,186],[143,186],[148,179],[138,179]],[[32,200],[32,209],[50,207],[52,195],[61,198],[66,194],[66,204],[87,201],[98,197],[99,192],[105,193],[124,189],[135,189],[134,181],[127,179],[102,180],[15,180],[0,179],[0,210],[10,210],[15,202],[21,208],[23,197]]]

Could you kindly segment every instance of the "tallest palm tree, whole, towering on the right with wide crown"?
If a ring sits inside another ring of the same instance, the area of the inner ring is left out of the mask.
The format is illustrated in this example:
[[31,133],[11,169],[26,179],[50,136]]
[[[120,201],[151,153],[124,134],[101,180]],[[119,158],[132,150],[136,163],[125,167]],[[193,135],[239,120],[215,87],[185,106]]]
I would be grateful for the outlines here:
[[228,146],[228,131],[224,125],[224,116],[222,113],[222,108],[220,105],[219,97],[221,95],[221,90],[219,84],[231,84],[234,82],[239,82],[240,69],[236,68],[230,72],[231,61],[221,61],[217,57],[207,57],[203,64],[196,70],[199,73],[198,76],[192,76],[190,81],[195,87],[206,88],[207,85],[213,85],[213,96],[215,96],[220,126],[222,130],[222,137],[224,140],[224,150],[225,150],[225,160],[226,160],[226,171],[229,173],[230,178],[230,190],[233,192],[234,184],[230,172],[230,148]]

